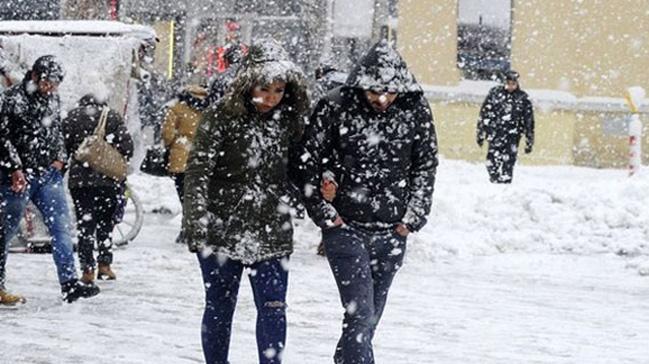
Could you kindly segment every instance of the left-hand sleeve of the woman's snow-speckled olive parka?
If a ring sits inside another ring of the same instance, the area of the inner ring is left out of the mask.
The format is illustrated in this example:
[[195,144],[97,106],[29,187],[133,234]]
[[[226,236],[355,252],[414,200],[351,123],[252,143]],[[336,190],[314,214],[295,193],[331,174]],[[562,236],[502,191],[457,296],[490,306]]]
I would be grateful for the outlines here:
[[209,181],[216,165],[218,147],[223,131],[214,112],[207,112],[199,124],[193,148],[185,170],[185,198],[183,230],[192,252],[199,251],[207,242],[208,229],[214,216],[208,210]]

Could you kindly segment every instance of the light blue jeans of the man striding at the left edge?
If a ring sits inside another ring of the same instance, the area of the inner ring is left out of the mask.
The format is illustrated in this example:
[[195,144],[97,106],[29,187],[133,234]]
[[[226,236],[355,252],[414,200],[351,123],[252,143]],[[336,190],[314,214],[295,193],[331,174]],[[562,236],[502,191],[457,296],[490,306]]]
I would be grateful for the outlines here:
[[8,242],[16,235],[20,219],[25,212],[27,203],[31,200],[43,215],[43,222],[52,236],[52,257],[56,264],[59,283],[77,278],[74,267],[74,251],[72,247],[72,225],[70,211],[65,199],[63,176],[55,168],[50,168],[39,174],[26,176],[27,188],[21,193],[11,190],[11,185],[3,181],[0,194],[4,201],[4,228],[5,249],[2,251],[4,259],[0,265],[0,288],[5,283],[5,264],[7,258]]

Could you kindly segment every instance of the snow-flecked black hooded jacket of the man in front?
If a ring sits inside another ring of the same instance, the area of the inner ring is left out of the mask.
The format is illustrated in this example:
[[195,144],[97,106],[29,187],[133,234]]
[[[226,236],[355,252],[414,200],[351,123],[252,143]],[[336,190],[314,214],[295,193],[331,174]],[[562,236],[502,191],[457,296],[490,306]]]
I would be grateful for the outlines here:
[[[397,92],[376,111],[364,91]],[[348,224],[387,230],[403,223],[421,229],[430,212],[437,168],[433,116],[421,87],[401,56],[378,43],[345,86],[322,99],[303,142],[305,204],[313,221],[327,226],[338,214]],[[319,186],[325,172],[338,183],[329,204]]]

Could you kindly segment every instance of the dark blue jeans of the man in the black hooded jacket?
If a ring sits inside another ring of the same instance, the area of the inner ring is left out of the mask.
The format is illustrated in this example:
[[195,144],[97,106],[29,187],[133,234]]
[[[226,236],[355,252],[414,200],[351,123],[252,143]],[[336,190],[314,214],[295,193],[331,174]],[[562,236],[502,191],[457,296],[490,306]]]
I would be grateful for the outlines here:
[[322,238],[345,308],[334,362],[373,364],[372,339],[392,279],[403,264],[406,238],[350,226],[325,229]]

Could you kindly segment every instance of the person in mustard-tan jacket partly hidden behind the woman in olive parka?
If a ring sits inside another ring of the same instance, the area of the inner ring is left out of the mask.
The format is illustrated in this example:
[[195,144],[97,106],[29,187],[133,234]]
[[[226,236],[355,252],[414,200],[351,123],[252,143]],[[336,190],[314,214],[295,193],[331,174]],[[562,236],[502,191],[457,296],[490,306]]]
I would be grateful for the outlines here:
[[[196,129],[205,109],[207,91],[199,86],[188,86],[178,94],[178,101],[169,108],[162,123],[162,140],[169,150],[167,170],[174,180],[180,203],[185,191],[185,168]],[[181,230],[176,243],[183,243]]]

